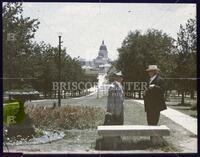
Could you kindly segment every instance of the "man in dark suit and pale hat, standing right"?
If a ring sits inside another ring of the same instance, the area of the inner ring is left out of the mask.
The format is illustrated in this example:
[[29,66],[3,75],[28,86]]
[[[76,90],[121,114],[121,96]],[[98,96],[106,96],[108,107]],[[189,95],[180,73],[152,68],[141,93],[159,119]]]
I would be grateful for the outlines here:
[[148,125],[157,125],[160,117],[160,111],[165,110],[165,88],[164,79],[159,75],[157,65],[149,65],[146,70],[150,77],[148,87],[144,92],[144,105],[147,114]]

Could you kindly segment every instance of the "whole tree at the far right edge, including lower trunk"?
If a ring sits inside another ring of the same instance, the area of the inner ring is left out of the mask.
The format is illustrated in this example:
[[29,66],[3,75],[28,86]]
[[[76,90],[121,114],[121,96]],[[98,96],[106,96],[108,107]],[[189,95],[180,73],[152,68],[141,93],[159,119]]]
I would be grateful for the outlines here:
[[[196,78],[196,52],[197,52],[197,34],[196,19],[189,19],[185,26],[180,25],[177,34],[177,54],[175,75],[180,78]],[[181,104],[184,104],[184,93],[190,91],[191,98],[194,97],[196,90],[196,81],[182,80],[178,83],[182,94]]]

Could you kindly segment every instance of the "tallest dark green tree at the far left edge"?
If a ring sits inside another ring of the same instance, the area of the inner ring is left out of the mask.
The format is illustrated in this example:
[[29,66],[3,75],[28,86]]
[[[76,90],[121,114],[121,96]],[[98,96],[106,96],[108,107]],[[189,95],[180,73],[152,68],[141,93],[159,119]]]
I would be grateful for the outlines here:
[[10,89],[14,83],[10,78],[29,77],[31,65],[26,60],[31,56],[31,39],[39,26],[37,19],[24,17],[22,12],[22,3],[3,5],[3,75],[9,78]]

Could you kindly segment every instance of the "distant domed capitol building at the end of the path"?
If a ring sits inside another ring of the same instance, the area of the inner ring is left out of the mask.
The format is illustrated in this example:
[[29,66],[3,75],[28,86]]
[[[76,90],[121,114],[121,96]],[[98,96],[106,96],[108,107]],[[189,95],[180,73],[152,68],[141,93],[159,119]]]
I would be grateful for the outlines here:
[[108,58],[108,50],[104,40],[99,47],[98,56],[95,59],[92,61],[79,59],[79,62],[87,74],[106,73],[111,67],[111,60]]

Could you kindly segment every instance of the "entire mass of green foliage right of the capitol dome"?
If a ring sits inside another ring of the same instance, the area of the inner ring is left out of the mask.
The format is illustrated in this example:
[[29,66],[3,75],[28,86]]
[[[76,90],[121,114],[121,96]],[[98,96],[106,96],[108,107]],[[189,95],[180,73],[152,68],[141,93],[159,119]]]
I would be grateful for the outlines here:
[[167,89],[184,92],[196,90],[196,20],[189,19],[185,26],[181,25],[177,40],[162,31],[149,29],[145,33],[136,30],[129,32],[121,48],[118,49],[119,58],[116,68],[122,70],[125,81],[146,80],[146,68],[156,64],[161,75],[174,78],[167,80]]

